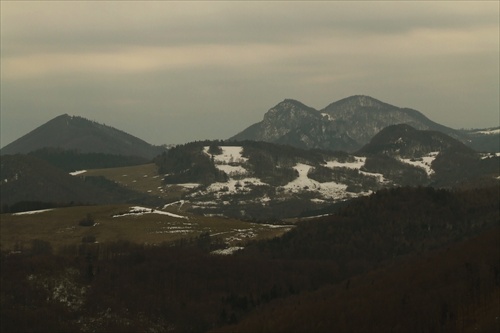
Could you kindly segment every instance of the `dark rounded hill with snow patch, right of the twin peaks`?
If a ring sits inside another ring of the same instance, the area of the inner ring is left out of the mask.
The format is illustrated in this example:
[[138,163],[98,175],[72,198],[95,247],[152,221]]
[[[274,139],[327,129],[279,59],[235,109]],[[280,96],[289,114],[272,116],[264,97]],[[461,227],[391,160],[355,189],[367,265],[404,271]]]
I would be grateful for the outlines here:
[[[384,128],[357,154],[367,156],[366,171],[383,172],[386,177],[388,160],[418,166],[426,170],[428,184],[436,187],[480,187],[498,181],[498,154],[480,154],[441,132],[404,124]],[[393,174],[399,177],[401,171],[396,168]],[[414,179],[412,185],[423,185],[425,178],[414,175]]]

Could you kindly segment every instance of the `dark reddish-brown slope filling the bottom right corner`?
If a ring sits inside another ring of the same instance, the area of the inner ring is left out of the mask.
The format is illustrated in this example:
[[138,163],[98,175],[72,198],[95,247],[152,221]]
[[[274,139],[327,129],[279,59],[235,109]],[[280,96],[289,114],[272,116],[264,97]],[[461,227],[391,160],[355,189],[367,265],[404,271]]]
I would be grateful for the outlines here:
[[315,292],[215,332],[498,332],[500,228]]

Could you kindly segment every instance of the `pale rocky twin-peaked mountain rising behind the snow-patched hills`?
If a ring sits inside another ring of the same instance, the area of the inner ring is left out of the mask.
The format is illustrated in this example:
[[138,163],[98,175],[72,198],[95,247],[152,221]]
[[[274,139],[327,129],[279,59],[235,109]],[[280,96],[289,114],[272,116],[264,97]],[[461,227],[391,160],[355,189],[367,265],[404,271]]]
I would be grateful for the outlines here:
[[380,130],[395,124],[435,130],[463,139],[459,131],[437,124],[416,110],[399,108],[369,96],[351,96],[321,111],[284,100],[264,119],[230,140],[267,141],[299,148],[355,151]]

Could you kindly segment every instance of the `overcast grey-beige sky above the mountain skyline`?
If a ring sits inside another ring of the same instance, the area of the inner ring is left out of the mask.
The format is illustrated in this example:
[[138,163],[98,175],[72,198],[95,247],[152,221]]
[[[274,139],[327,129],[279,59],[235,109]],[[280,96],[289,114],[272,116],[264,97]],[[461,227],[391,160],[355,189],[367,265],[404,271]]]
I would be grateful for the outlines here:
[[157,145],[227,139],[286,98],[352,95],[500,125],[496,0],[0,6],[2,147],[65,113]]

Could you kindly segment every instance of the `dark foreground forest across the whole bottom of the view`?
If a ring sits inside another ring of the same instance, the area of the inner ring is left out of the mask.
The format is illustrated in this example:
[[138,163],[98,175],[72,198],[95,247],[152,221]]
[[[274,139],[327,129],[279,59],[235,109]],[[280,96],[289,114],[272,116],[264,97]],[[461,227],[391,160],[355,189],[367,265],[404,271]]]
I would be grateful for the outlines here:
[[0,327],[498,331],[499,199],[498,187],[380,190],[232,256],[211,254],[223,244],[209,234],[157,245],[33,240],[1,254]]

